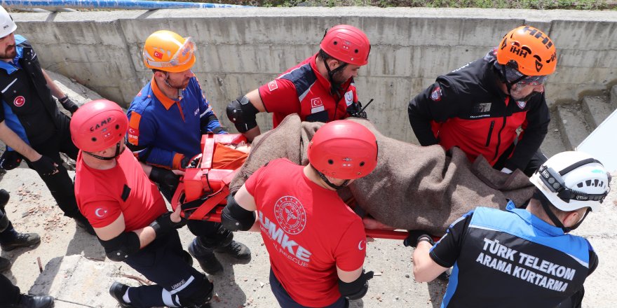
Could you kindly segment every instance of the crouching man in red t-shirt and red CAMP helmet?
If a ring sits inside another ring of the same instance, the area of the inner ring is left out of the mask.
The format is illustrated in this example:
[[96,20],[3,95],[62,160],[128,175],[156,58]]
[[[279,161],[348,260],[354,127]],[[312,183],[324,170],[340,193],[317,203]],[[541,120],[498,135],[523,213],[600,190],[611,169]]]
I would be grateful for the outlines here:
[[73,141],[81,149],[75,172],[80,211],[92,223],[107,258],[125,262],[156,283],[129,287],[115,282],[109,293],[121,307],[203,307],[212,297],[212,283],[182,250],[176,230],[184,225],[179,210],[168,211],[149,180],[177,178],[167,169],[142,169],[124,151],[127,128],[120,106],[104,99],[84,104],[71,121]]

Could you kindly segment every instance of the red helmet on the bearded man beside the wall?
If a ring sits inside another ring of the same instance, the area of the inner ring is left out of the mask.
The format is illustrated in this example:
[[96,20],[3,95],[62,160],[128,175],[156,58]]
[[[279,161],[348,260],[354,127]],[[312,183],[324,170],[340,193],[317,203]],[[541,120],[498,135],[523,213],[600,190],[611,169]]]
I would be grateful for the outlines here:
[[330,57],[353,65],[366,65],[371,43],[362,30],[350,25],[338,25],[327,31],[319,47]]

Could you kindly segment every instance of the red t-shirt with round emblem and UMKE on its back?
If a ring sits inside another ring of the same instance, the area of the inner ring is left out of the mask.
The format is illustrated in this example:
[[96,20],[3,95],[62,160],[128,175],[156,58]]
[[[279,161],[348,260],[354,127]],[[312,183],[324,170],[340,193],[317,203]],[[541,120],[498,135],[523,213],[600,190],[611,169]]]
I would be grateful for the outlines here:
[[341,297],[337,267],[362,267],[366,234],[360,216],[333,190],[309,180],[304,167],[281,158],[246,181],[276,278],[293,300],[325,307]]

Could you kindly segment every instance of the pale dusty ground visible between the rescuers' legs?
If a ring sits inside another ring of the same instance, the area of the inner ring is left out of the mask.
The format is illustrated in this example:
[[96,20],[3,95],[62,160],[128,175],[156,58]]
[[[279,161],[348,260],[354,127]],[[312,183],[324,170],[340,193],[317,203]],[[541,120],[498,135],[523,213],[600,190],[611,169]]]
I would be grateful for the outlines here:
[[[107,291],[111,281],[139,285],[139,274],[122,263],[105,259],[95,237],[62,216],[32,170],[18,168],[7,172],[0,178],[0,188],[11,193],[6,210],[15,228],[41,235],[41,244],[35,248],[1,253],[13,261],[11,271],[3,274],[22,292],[54,295],[56,307],[60,308],[116,307]],[[576,230],[577,235],[590,239],[600,258],[597,271],[585,283],[583,307],[614,307],[611,286],[617,272],[617,258],[613,258],[617,248],[616,203],[616,194],[611,193],[606,207],[590,214]],[[186,228],[181,230],[181,237],[186,247],[192,239]],[[211,276],[217,293],[212,307],[278,307],[268,282],[269,259],[261,237],[257,233],[238,232],[236,239],[250,247],[252,260],[241,264],[226,256],[219,258],[224,274]],[[377,239],[369,243],[365,268],[376,272],[376,276],[369,281],[364,299],[351,307],[439,307],[447,283],[416,283],[411,255],[412,248],[402,246],[400,241]]]

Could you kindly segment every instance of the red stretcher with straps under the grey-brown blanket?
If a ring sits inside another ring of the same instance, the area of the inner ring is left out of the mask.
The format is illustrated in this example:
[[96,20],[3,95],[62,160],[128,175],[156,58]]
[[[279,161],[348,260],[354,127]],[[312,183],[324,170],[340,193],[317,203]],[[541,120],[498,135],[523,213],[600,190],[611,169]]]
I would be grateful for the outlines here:
[[[246,142],[242,134],[204,134],[201,138],[202,153],[196,155],[180,179],[172,197],[172,208],[182,207],[182,217],[187,219],[221,222],[221,213],[227,204],[229,183],[239,169],[214,169],[212,158],[216,144]],[[347,200],[352,209],[355,200]],[[357,213],[360,211],[357,211]],[[367,237],[379,239],[405,239],[405,230],[365,229]]]

